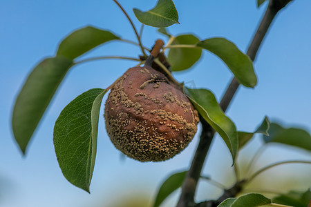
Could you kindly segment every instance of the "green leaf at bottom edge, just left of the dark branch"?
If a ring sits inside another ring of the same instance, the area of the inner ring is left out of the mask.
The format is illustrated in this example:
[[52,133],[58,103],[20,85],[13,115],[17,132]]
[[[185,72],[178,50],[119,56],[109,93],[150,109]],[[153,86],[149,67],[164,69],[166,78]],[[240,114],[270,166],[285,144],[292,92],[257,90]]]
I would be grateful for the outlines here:
[[171,193],[182,186],[182,181],[186,177],[187,171],[177,172],[167,178],[158,191],[156,201],[153,204],[153,207],[158,207],[164,199],[166,199]]

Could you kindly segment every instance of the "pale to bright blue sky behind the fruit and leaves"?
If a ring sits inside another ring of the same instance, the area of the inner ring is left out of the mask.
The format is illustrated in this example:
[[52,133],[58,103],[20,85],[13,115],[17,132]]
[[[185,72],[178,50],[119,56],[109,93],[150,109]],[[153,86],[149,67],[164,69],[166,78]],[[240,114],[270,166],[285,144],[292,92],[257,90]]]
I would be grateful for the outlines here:
[[[120,3],[140,28],[132,9],[148,10],[156,1],[120,0]],[[191,33],[199,39],[225,37],[242,51],[247,50],[267,6],[265,3],[258,9],[254,0],[191,3],[176,0],[175,4],[180,25],[169,27],[172,34]],[[254,89],[241,87],[227,112],[238,130],[254,130],[267,115],[285,126],[301,126],[310,132],[310,8],[309,0],[294,1],[272,23],[254,63],[258,86]],[[144,192],[153,199],[164,177],[189,166],[198,135],[184,152],[169,161],[122,161],[120,152],[115,150],[104,130],[102,110],[91,195],[72,186],[62,176],[53,147],[53,125],[59,112],[77,95],[91,88],[106,88],[127,68],[135,66],[135,62],[123,60],[94,61],[70,70],[41,120],[26,157],[21,156],[10,129],[12,104],[17,92],[33,66],[44,57],[53,56],[59,41],[67,34],[86,25],[111,30],[124,39],[135,41],[127,19],[113,1],[0,1],[0,206],[100,206],[99,203],[108,204],[117,195],[122,197],[131,191]],[[158,38],[167,41],[156,32],[156,28],[145,27],[142,37],[145,46],[151,47]],[[137,57],[140,50],[127,43],[111,42],[82,59],[101,55]],[[209,88],[218,99],[232,78],[223,62],[208,52],[204,52],[188,72],[177,72],[174,76],[198,88]],[[241,154],[252,154],[258,145],[257,137]],[[264,158],[268,157],[269,160],[263,159],[263,163],[290,158],[310,159],[310,154],[272,147],[264,155]],[[311,172],[310,167],[303,170]],[[213,142],[203,172],[230,185],[229,150],[219,137]],[[298,184],[311,186],[310,179],[307,181],[303,183],[296,179]],[[220,190],[203,183],[198,192],[197,199],[205,199],[216,197]],[[171,199],[171,203],[176,197]],[[171,203],[168,201],[166,204],[169,206]]]

